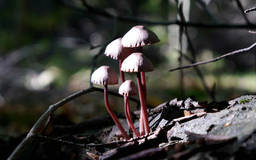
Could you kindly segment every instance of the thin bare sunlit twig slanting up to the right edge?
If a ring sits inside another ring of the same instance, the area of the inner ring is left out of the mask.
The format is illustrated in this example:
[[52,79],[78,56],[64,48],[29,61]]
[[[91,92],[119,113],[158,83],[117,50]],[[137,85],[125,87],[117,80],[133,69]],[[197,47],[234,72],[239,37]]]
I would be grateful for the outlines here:
[[236,51],[233,51],[233,52],[229,52],[228,54],[221,55],[220,57],[217,57],[217,58],[212,59],[210,61],[196,62],[194,64],[189,64],[188,66],[182,66],[182,67],[170,69],[169,71],[176,71],[176,70],[179,70],[179,69],[191,68],[193,66],[198,66],[198,65],[201,65],[201,64],[207,64],[209,62],[219,61],[220,59],[222,59],[224,57],[228,57],[230,55],[235,55],[235,54],[241,54],[243,52],[248,52],[249,50],[252,50],[255,46],[256,46],[256,43],[253,43],[253,45],[251,45],[250,47],[243,48],[243,49],[240,49],[240,50],[236,50]]

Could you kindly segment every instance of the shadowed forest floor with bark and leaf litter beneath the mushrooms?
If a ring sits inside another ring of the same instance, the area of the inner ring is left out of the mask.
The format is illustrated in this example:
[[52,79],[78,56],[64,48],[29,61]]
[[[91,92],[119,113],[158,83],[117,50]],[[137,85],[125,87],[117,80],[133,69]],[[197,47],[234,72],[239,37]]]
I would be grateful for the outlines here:
[[[256,96],[218,103],[173,99],[148,111],[148,135],[124,140],[106,115],[35,135],[22,159],[256,158]],[[139,115],[132,112],[137,128]],[[118,118],[128,131],[124,113]],[[24,136],[0,140],[3,156],[8,157]]]

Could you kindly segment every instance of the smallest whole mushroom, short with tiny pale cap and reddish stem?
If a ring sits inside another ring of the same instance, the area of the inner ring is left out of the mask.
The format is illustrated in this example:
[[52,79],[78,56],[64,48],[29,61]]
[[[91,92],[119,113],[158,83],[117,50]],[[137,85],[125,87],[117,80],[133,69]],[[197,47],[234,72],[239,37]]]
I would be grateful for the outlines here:
[[124,110],[125,116],[127,118],[127,123],[131,127],[134,135],[137,137],[139,136],[139,134],[134,125],[132,124],[130,104],[128,98],[128,96],[135,96],[137,94],[136,85],[134,84],[134,82],[132,82],[132,80],[126,80],[122,85],[120,85],[118,93],[124,96]]

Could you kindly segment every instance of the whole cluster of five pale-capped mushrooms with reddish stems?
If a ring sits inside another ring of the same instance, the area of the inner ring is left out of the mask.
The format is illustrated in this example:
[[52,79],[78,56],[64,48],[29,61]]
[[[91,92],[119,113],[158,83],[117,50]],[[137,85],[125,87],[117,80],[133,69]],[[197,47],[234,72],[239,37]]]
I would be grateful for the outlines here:
[[[119,60],[122,85],[120,85],[118,92],[124,96],[124,110],[127,118],[127,124],[129,126],[129,130],[131,133],[134,133],[135,137],[150,133],[147,113],[147,87],[145,72],[153,71],[154,68],[152,62],[143,54],[142,47],[157,43],[158,41],[159,39],[155,33],[143,25],[136,25],[132,27],[132,29],[128,31],[123,38],[118,38],[109,43],[104,53],[108,57]],[[132,80],[125,81],[124,72],[135,72],[137,76],[138,92],[141,104],[140,135],[132,124],[128,98],[129,96],[137,94],[137,87]],[[109,66],[102,66],[93,73],[92,82],[94,84],[104,85],[106,108],[124,138],[129,140],[130,137],[125,132],[124,127],[122,127],[122,124],[120,124],[108,103],[108,85],[118,84],[118,76]]]

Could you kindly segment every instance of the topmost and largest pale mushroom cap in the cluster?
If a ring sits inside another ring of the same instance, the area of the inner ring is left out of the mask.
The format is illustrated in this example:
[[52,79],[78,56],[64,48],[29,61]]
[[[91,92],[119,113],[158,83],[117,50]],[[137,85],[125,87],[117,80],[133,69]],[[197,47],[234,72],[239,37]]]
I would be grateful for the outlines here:
[[122,45],[124,47],[142,47],[157,42],[159,42],[157,35],[143,25],[132,27],[122,39]]

